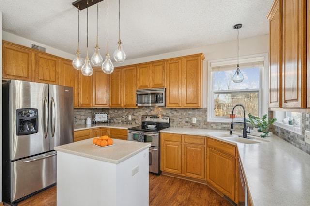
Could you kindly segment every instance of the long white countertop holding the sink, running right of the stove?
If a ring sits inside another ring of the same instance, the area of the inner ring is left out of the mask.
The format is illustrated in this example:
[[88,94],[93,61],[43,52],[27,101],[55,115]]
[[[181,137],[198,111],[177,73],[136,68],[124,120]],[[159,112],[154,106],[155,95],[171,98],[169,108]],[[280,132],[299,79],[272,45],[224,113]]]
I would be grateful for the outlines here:
[[[208,133],[218,131],[170,127],[160,132],[212,137]],[[278,136],[264,139],[270,142],[243,144],[224,140],[238,147],[254,206],[309,206],[310,155]]]

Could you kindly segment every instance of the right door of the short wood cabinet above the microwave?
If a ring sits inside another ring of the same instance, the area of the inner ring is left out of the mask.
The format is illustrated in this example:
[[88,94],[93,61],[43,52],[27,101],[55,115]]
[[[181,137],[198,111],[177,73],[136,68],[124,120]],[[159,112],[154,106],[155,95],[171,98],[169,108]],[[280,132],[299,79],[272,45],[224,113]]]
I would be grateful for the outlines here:
[[151,64],[151,88],[165,87],[165,63]]

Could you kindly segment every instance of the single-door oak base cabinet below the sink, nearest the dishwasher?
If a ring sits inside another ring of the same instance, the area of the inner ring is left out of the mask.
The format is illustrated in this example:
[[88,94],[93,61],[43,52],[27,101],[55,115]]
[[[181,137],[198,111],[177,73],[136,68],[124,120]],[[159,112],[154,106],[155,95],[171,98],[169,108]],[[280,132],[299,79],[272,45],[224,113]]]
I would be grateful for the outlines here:
[[236,202],[236,146],[211,138],[207,141],[208,184]]

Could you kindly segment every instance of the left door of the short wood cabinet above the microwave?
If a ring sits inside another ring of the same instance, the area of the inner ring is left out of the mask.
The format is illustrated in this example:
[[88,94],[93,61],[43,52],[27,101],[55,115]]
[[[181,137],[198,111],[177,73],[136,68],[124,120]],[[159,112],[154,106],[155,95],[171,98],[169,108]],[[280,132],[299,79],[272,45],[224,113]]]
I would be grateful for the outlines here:
[[151,88],[150,77],[150,64],[137,65],[137,88]]

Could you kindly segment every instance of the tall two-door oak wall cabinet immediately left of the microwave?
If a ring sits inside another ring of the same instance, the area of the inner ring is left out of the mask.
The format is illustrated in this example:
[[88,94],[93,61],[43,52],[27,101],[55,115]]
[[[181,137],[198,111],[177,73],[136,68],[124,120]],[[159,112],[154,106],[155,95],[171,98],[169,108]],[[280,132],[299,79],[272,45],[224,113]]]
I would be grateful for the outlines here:
[[110,74],[110,107],[137,108],[136,66],[119,67]]

